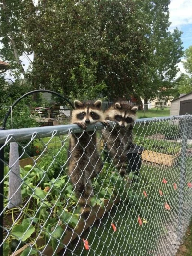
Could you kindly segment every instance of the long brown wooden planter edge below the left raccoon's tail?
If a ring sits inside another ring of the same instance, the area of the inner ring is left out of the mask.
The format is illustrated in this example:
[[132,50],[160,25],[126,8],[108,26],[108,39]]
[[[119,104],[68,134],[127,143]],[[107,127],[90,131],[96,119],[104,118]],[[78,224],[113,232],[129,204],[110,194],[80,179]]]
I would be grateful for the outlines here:
[[[87,228],[92,226],[96,222],[96,220],[100,219],[106,212],[108,212],[114,205],[116,205],[118,203],[120,203],[120,197],[116,197],[116,199],[113,203],[110,203],[108,200],[105,200],[105,202],[104,202],[105,208],[104,209],[102,209],[100,206],[96,205],[95,207],[93,207],[93,210],[92,210],[93,213],[88,218],[88,220],[86,222],[84,222],[80,219],[80,221],[78,223],[78,228],[76,230],[74,230],[73,232],[66,230],[66,225],[63,225],[62,227],[63,227],[63,231],[65,231],[65,236],[64,236],[63,240],[61,241],[62,244],[67,246],[76,237],[81,235]],[[19,256],[19,255],[21,255],[21,253],[24,251],[24,249],[26,249],[27,247],[29,247],[29,245],[32,245],[32,244],[33,243],[29,243],[29,244],[24,245],[22,248],[20,248],[16,252],[12,253],[10,256]],[[43,249],[43,254],[47,255],[47,256],[53,256],[52,247],[49,244],[47,244],[43,238],[40,237],[36,241],[37,248],[41,247],[45,244],[46,244],[46,246]],[[34,248],[35,248],[35,246],[34,246]],[[57,254],[62,249],[63,249],[63,247],[58,247],[58,249],[55,253]]]

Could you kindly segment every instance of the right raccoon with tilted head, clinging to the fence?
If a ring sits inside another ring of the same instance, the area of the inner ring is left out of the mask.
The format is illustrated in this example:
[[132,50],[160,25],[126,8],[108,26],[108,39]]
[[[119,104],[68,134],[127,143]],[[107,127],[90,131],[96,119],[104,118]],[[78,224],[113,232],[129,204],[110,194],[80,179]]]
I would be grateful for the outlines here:
[[105,110],[105,120],[116,121],[114,128],[105,129],[102,134],[103,141],[109,156],[123,177],[127,169],[125,151],[133,143],[132,129],[136,119],[137,107],[126,102],[116,102]]

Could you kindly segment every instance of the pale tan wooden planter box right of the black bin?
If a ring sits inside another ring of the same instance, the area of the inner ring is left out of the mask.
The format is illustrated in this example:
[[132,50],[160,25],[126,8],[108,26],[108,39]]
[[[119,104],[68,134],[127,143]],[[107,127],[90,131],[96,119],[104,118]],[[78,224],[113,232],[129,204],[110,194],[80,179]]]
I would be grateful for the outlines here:
[[175,155],[168,155],[145,149],[145,151],[142,152],[142,160],[156,164],[171,166],[179,155],[180,152],[176,153]]

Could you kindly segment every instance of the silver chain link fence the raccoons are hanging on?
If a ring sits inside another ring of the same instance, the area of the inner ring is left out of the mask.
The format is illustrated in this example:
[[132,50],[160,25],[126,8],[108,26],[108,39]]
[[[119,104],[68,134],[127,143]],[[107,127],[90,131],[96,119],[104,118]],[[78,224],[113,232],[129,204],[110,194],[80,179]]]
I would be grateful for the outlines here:
[[83,193],[77,196],[68,171],[69,138],[82,130],[73,124],[0,131],[0,255],[176,254],[192,218],[192,115],[136,120],[123,178],[103,142],[106,130],[110,137],[100,123],[83,131],[83,154],[96,134],[102,162],[96,177],[82,176],[92,188],[86,220]]

